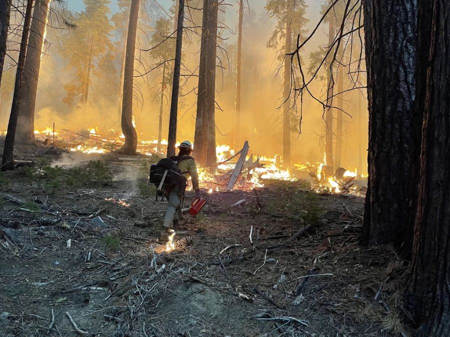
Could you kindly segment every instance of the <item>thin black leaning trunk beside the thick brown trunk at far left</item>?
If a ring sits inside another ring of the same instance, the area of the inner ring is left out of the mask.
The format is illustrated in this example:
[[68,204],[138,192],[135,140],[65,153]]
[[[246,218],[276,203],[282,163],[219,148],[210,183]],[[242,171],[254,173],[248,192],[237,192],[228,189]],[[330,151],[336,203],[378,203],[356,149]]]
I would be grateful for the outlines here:
[[23,67],[25,64],[26,47],[28,44],[29,22],[31,21],[31,9],[33,1],[26,2],[25,19],[23,21],[22,37],[20,41],[20,51],[17,62],[17,71],[15,73],[14,94],[12,97],[11,113],[9,115],[8,129],[4,140],[3,157],[1,158],[1,171],[13,170],[13,152],[15,130],[17,128],[17,115],[20,108],[20,86],[23,79]]

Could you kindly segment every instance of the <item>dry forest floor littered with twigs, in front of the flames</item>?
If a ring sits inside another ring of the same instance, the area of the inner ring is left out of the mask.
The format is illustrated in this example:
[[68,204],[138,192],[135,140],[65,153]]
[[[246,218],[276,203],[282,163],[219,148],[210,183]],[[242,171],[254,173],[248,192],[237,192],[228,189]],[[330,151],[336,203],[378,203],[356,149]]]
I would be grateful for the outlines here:
[[0,336],[76,336],[66,312],[87,336],[406,334],[402,262],[358,245],[361,198],[300,182],[214,192],[166,253],[148,159],[19,154],[35,166],[0,175]]

